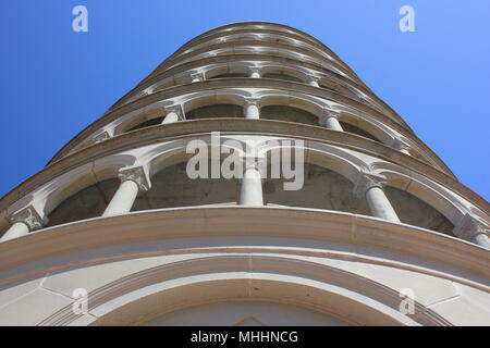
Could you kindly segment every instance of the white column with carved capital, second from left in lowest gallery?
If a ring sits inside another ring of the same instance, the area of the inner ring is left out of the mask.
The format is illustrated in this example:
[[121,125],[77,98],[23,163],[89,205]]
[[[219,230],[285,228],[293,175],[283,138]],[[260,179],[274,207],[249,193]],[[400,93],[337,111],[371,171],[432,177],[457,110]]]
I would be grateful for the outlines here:
[[119,178],[121,184],[102,216],[113,216],[130,212],[138,192],[149,189],[148,179],[140,166],[120,171]]

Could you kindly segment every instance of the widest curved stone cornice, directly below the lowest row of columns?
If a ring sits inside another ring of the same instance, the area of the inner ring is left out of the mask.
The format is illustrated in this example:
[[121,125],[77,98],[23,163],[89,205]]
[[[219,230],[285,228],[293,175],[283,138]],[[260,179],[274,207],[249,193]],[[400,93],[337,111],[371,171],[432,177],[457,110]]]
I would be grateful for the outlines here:
[[[291,224],[292,220],[294,224]],[[45,228],[0,244],[0,285],[47,271],[71,268],[72,263],[59,261],[63,260],[61,256],[69,253],[103,250],[102,248],[122,245],[126,246],[124,250],[130,250],[127,244],[179,238],[186,238],[191,243],[192,238],[222,236],[273,236],[318,240],[329,243],[331,250],[301,250],[302,248],[295,247],[294,252],[346,260],[359,259],[368,263],[409,269],[487,291],[490,285],[490,252],[464,240],[364,215],[277,207],[150,210]],[[212,248],[212,243],[209,244],[208,249]],[[188,249],[187,252],[196,250]],[[266,248],[265,252],[284,250]],[[127,257],[130,256],[126,254]],[[144,254],[138,253],[138,257]],[[120,260],[121,256],[102,253],[97,257],[97,253],[90,253],[90,258],[94,259],[91,262],[97,262],[100,258],[108,262],[111,258]],[[45,261],[40,262],[41,260]],[[22,272],[15,276],[1,272],[21,268]]]

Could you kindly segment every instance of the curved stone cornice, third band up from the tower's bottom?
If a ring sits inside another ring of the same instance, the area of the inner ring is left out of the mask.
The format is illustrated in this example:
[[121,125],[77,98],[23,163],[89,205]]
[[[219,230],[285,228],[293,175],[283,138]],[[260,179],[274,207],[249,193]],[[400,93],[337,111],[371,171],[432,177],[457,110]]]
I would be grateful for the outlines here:
[[173,88],[169,88],[166,90],[161,90],[145,97],[142,97],[137,100],[134,100],[132,102],[128,102],[124,105],[121,105],[120,108],[110,110],[105,115],[102,115],[100,119],[88,125],[84,130],[78,133],[72,140],[70,140],[58,153],[49,161],[48,164],[52,163],[53,161],[59,160],[61,157],[69,153],[76,145],[84,141],[88,136],[90,136],[93,133],[97,132],[98,129],[102,128],[103,125],[123,116],[124,114],[127,114],[132,111],[142,109],[148,104],[151,104],[157,101],[166,100],[169,98],[174,98],[177,96],[182,96],[185,94],[196,92],[196,91],[203,91],[203,90],[213,90],[213,89],[220,89],[220,88],[275,88],[278,90],[283,90],[285,94],[289,94],[289,91],[295,91],[299,94],[307,94],[309,96],[316,96],[319,98],[330,99],[334,100],[336,102],[343,103],[345,105],[350,105],[354,109],[358,109],[371,116],[375,116],[378,121],[391,126],[392,128],[399,130],[403,135],[405,135],[407,138],[413,139],[417,145],[419,145],[427,153],[432,154],[432,158],[438,161],[438,163],[444,167],[444,170],[450,173],[451,170],[442,162],[441,159],[430,149],[428,148],[422,141],[420,141],[415,134],[412,132],[405,129],[402,125],[400,125],[397,122],[391,120],[389,116],[384,115],[383,113],[377,111],[376,109],[372,109],[366,104],[363,104],[360,102],[357,102],[351,98],[344,97],[335,91],[331,91],[328,89],[311,87],[306,84],[302,83],[294,83],[294,82],[285,82],[285,80],[274,80],[274,79],[268,79],[268,78],[226,78],[226,79],[211,79],[206,80],[201,83],[194,83],[188,85],[182,85],[182,86],[175,86]]

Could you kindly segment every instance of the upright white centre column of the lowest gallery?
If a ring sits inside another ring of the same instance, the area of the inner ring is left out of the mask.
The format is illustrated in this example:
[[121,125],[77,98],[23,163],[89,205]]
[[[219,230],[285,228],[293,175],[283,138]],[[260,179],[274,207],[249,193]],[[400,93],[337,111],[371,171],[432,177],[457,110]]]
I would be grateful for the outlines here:
[[244,159],[244,175],[240,187],[241,206],[264,206],[262,181],[259,171],[259,159]]

